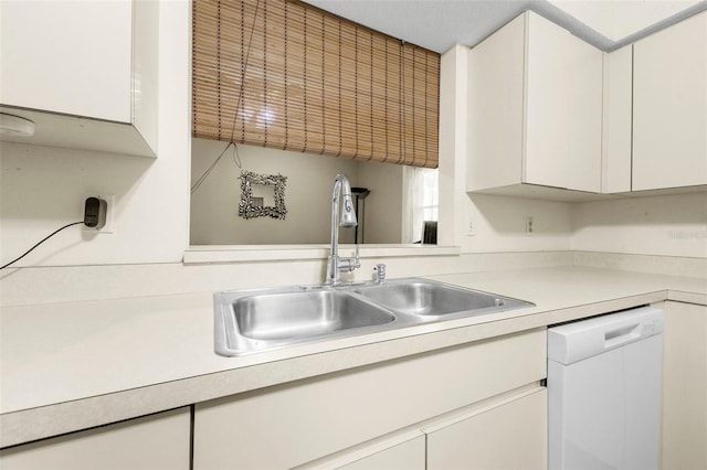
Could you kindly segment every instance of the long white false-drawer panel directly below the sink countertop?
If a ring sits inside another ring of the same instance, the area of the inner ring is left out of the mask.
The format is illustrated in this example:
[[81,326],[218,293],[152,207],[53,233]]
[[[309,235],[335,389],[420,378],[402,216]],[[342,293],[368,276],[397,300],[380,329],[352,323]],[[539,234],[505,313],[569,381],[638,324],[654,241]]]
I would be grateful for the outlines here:
[[300,466],[545,376],[538,329],[197,404],[194,469]]

